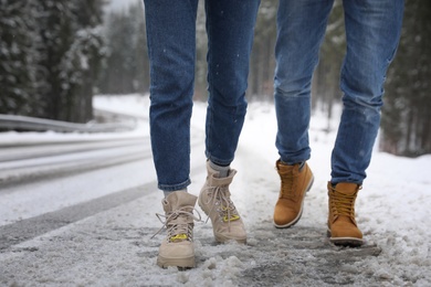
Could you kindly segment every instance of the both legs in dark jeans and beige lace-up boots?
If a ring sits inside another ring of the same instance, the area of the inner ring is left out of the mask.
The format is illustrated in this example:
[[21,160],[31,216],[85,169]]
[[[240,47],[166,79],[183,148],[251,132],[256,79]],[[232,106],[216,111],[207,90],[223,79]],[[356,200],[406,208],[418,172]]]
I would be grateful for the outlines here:
[[[168,230],[157,264],[193,267],[192,240],[197,196],[190,184],[190,117],[199,0],[144,0],[150,59],[150,137],[158,188]],[[260,0],[206,0],[208,34],[208,177],[199,205],[211,219],[218,242],[244,242],[245,228],[229,184],[229,168],[246,111],[249,60]]]

